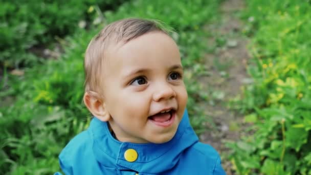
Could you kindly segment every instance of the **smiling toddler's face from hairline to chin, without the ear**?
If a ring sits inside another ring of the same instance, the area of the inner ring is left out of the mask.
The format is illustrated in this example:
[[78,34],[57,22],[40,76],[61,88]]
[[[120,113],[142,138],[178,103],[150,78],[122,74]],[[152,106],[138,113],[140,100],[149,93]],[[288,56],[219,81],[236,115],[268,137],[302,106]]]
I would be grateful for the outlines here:
[[[179,49],[151,32],[107,49],[104,106],[118,140],[164,143],[173,138],[187,102]],[[163,114],[161,112],[169,111]]]

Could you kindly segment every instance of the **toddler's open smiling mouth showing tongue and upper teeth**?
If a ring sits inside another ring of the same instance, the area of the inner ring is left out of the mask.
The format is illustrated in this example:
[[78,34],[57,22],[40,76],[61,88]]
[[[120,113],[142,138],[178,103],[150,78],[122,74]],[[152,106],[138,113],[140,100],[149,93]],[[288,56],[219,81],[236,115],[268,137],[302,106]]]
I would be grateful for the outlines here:
[[170,126],[175,118],[176,111],[166,110],[148,117],[153,123],[160,126]]

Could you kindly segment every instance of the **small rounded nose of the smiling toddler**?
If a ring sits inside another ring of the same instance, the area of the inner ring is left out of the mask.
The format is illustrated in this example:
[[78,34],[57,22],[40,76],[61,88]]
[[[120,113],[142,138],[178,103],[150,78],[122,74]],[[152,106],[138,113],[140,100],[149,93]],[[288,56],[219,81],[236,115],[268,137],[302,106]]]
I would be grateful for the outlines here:
[[176,92],[167,82],[158,85],[153,93],[154,101],[168,100],[174,97],[176,97]]

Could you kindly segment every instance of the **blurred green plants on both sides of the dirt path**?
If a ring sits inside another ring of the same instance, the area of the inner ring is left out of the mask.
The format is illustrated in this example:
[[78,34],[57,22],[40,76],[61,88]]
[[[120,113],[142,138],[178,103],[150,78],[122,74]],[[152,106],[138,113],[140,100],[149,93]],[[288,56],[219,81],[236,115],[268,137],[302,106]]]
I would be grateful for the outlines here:
[[[311,5],[309,1],[249,0],[242,13],[253,56],[232,108],[250,127],[227,143],[237,174],[311,174]],[[206,103],[197,75],[219,20],[217,0],[1,1],[0,173],[51,174],[68,141],[87,128],[82,103],[83,54],[106,24],[125,17],[156,18],[175,29],[181,48],[188,110],[197,134]],[[55,48],[60,48],[55,50]],[[60,56],[45,54],[45,51]],[[224,161],[224,160],[223,160]],[[225,160],[226,161],[226,160]]]

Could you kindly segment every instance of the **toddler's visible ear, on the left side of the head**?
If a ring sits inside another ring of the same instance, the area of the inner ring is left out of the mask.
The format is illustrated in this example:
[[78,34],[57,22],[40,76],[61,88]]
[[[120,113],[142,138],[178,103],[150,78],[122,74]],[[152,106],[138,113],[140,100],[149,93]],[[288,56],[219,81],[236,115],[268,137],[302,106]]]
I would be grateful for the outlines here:
[[90,111],[96,118],[104,122],[110,119],[110,114],[106,109],[106,105],[98,93],[93,91],[85,92],[83,101],[88,108],[88,111]]

